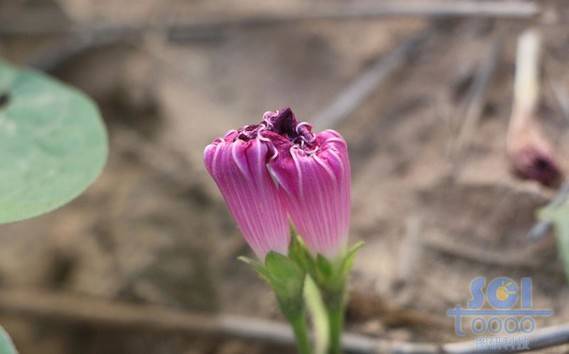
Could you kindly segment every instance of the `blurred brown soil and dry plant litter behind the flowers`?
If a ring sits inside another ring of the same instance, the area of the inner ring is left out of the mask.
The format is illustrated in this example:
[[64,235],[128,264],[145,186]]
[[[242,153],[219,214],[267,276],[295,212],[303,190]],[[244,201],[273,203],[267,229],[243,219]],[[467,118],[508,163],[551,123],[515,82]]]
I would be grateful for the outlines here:
[[527,237],[556,189],[510,173],[506,137],[516,43],[533,26],[536,117],[567,167],[569,11],[563,0],[511,5],[0,0],[0,56],[93,97],[111,144],[85,194],[1,227],[0,322],[25,354],[292,353],[172,315],[282,320],[237,261],[251,252],[202,152],[286,106],[349,142],[351,239],[366,243],[350,331],[457,340],[446,311],[480,275],[531,276],[534,304],[555,312],[540,327],[563,322],[555,239]]

